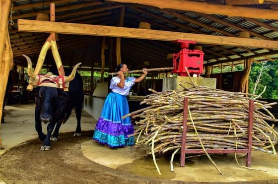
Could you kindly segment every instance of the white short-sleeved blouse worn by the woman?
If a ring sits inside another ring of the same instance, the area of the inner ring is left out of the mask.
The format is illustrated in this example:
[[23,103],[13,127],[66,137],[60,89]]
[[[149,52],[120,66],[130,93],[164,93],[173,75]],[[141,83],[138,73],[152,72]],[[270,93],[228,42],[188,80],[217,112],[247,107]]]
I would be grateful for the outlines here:
[[112,91],[115,93],[127,96],[130,92],[131,87],[135,84],[135,79],[135,77],[128,77],[127,79],[125,79],[124,88],[120,88],[117,86],[117,84],[121,82],[121,78],[113,77],[111,79],[110,89],[112,89]]

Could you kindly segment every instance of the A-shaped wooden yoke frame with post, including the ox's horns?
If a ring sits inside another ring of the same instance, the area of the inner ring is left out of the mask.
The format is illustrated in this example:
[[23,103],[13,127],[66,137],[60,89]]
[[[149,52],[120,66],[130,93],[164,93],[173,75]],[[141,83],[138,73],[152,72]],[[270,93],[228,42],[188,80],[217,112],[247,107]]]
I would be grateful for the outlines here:
[[[50,3],[50,21],[55,22],[55,3]],[[49,82],[56,81],[57,85],[53,84],[53,83],[42,82],[45,78],[49,78],[49,77],[44,76],[44,75],[39,75],[39,72],[43,66],[47,51],[50,47],[51,47],[52,55],[55,60],[58,72],[59,72],[59,76],[52,75],[53,77],[49,80]],[[74,78],[77,67],[81,64],[81,63],[76,64],[74,66],[74,68],[72,69],[71,74],[69,76],[65,76],[64,66],[61,61],[61,57],[60,57],[57,43],[56,43],[55,32],[50,32],[49,37],[46,39],[46,41],[41,49],[34,72],[32,71],[32,61],[30,60],[30,58],[25,55],[23,55],[23,56],[26,58],[26,60],[28,62],[28,70],[27,71],[28,71],[28,75],[30,76],[30,80],[29,80],[29,85],[27,86],[27,90],[29,90],[29,91],[32,91],[34,86],[51,86],[51,87],[62,88],[62,89],[64,89],[64,91],[68,91],[69,83]]]

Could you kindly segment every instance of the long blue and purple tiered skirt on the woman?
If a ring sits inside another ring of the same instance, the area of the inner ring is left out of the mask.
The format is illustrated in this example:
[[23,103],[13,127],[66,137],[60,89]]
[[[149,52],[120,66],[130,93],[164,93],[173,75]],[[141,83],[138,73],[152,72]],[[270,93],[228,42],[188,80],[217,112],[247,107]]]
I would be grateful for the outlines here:
[[127,97],[114,92],[109,93],[101,117],[96,123],[93,139],[112,148],[134,145],[131,118],[121,119],[126,114],[129,114]]

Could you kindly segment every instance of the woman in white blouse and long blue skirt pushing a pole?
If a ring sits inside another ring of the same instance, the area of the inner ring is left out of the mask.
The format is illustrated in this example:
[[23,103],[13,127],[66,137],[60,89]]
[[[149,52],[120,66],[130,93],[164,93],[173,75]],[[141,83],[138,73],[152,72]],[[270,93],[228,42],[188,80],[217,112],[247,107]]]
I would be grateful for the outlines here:
[[146,68],[139,78],[125,78],[124,72],[128,71],[128,66],[120,63],[116,71],[118,75],[111,79],[110,89],[102,109],[101,117],[96,123],[93,139],[111,148],[134,145],[134,127],[131,118],[121,119],[129,113],[127,95],[131,87],[142,81],[147,75]]

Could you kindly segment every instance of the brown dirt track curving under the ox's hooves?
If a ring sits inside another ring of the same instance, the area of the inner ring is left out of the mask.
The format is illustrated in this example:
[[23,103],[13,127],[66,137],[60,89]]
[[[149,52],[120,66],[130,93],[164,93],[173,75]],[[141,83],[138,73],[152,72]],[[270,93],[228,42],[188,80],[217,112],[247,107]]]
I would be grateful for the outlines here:
[[[80,150],[80,144],[90,140],[91,135],[92,131],[83,131],[81,137],[73,137],[72,132],[61,133],[60,140],[53,143],[51,151],[40,151],[39,139],[15,146],[0,157],[0,178],[7,184],[185,183],[140,177],[92,162],[85,158]],[[278,183],[278,180],[253,181],[249,184],[251,183],[274,184]]]

